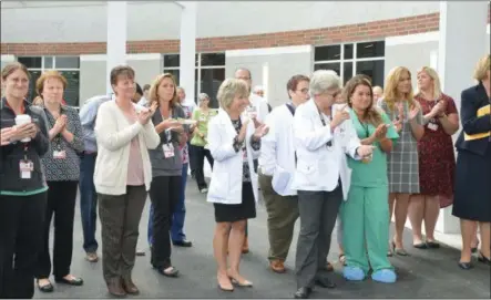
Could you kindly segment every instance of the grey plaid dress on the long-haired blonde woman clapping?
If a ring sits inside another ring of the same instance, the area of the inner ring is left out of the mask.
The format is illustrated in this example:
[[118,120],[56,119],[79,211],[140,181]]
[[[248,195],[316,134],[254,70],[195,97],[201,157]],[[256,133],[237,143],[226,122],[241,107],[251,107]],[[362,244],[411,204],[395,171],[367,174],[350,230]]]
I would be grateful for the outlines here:
[[[403,102],[402,107],[402,128],[399,132],[399,139],[387,155],[389,193],[419,194],[418,142],[412,136],[411,125],[409,124],[410,108],[407,101]],[[381,101],[381,108],[390,120],[399,118],[397,110],[390,110],[383,100]],[[421,110],[416,116],[416,122],[422,125]]]

